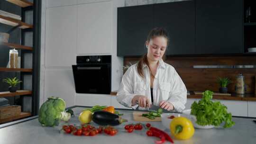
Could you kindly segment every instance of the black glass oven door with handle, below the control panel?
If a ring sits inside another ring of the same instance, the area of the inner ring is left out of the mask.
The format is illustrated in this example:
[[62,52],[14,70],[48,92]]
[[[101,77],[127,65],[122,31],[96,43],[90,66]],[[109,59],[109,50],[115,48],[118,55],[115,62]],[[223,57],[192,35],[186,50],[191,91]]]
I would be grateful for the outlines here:
[[110,64],[72,65],[76,93],[110,94]]

